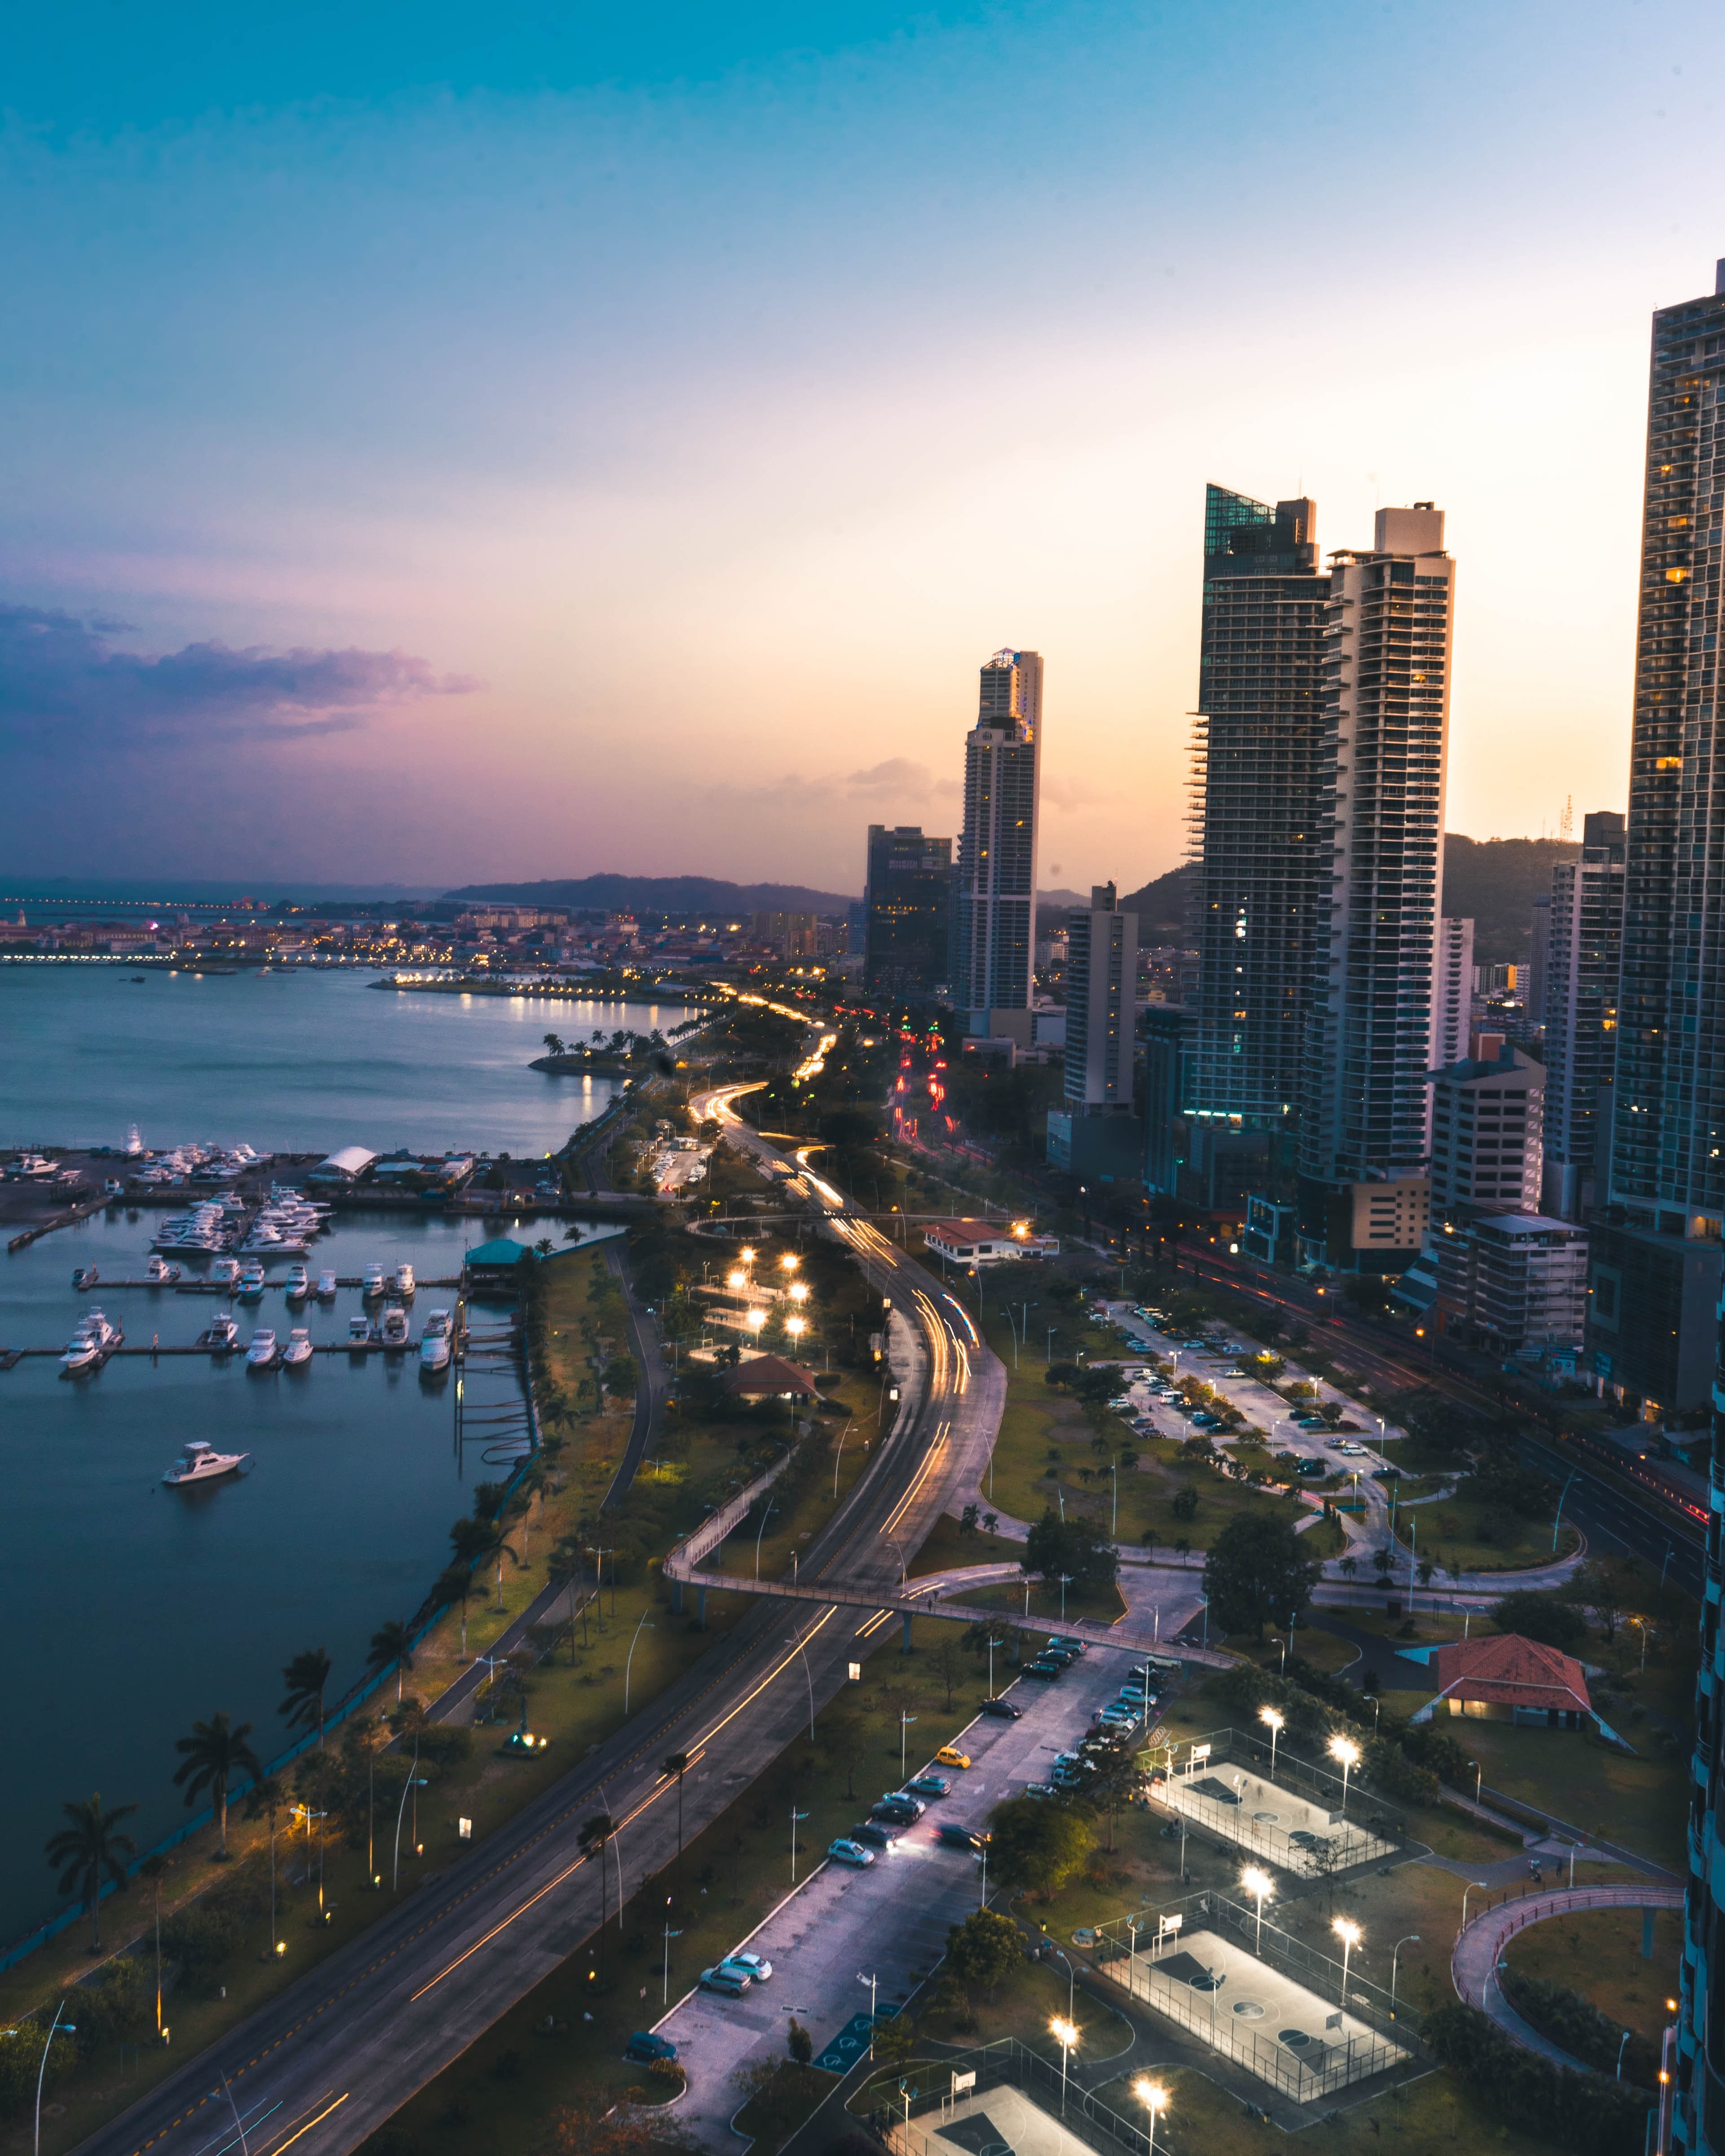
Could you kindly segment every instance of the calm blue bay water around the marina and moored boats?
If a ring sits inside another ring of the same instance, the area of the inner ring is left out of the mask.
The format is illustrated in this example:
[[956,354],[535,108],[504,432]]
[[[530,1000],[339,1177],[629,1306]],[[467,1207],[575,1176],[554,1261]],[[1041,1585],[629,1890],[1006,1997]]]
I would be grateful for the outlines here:
[[[248,1141],[259,1149],[453,1145],[543,1153],[595,1117],[604,1082],[526,1069],[546,1031],[671,1026],[681,1005],[567,1005],[397,996],[364,975],[153,975],[0,966],[0,1130],[15,1143]],[[160,1216],[155,1216],[160,1218]],[[99,1285],[138,1279],[151,1212],[101,1214],[0,1259],[0,1345],[63,1343],[101,1304],[127,1345],[190,1343],[209,1296]],[[371,1259],[420,1281],[459,1272],[477,1220],[343,1218],[306,1259],[356,1276]],[[541,1229],[524,1229],[524,1235]],[[276,1263],[274,1276],[285,1274]],[[453,1294],[420,1287],[425,1311]],[[239,1309],[285,1332],[343,1339],[358,1291],[289,1315],[280,1289]],[[252,1453],[250,1473],[170,1492],[162,1470],[188,1438]],[[280,1669],[302,1647],[334,1658],[332,1695],[364,1667],[371,1634],[405,1617],[442,1567],[451,1520],[494,1470],[455,1457],[448,1386],[414,1358],[315,1356],[306,1371],[248,1376],[237,1360],[116,1356],[88,1380],[30,1356],[0,1373],[0,1626],[11,1723],[28,1731],[4,1774],[0,1947],[60,1904],[41,1846],[67,1798],[136,1802],[140,1846],[185,1811],[170,1785],[175,1738],[226,1708],[267,1757],[285,1742]],[[22,1712],[19,1712],[22,1710]]]

